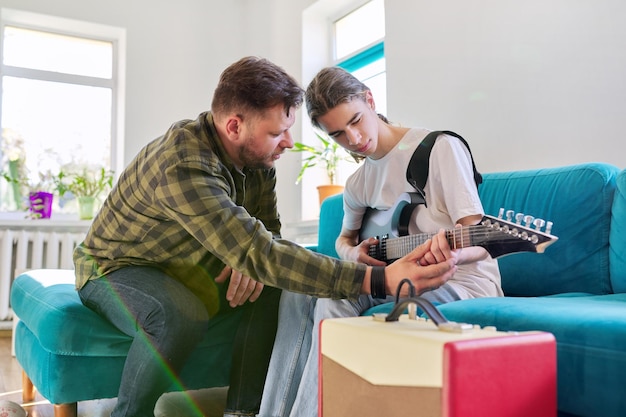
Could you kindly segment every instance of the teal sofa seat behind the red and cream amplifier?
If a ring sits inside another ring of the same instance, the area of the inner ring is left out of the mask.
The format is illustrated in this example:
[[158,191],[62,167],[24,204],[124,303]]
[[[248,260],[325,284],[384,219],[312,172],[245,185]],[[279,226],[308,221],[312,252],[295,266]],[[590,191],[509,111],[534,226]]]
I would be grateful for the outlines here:
[[448,320],[502,331],[542,330],[557,341],[559,410],[626,415],[626,294],[476,298],[442,304]]

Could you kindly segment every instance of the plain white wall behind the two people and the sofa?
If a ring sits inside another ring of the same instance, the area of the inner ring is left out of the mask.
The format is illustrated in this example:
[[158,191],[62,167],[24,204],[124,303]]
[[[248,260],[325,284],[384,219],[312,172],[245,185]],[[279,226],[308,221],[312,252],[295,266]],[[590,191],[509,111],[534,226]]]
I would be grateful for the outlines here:
[[[325,52],[306,41],[318,35],[310,26],[303,33],[303,12],[358,1],[0,0],[0,7],[127,29],[129,162],[173,121],[208,109],[219,74],[241,56],[264,56],[308,82]],[[393,121],[458,131],[484,172],[584,161],[626,165],[626,2],[385,4]],[[296,140],[305,115],[298,114]],[[288,153],[277,164],[285,225],[302,212],[294,184],[300,157]]]

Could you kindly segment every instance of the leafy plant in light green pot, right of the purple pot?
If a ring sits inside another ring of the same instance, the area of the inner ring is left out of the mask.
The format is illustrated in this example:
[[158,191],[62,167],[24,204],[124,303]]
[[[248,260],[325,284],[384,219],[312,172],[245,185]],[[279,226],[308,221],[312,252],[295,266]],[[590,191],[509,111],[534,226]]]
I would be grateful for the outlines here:
[[81,220],[93,218],[96,201],[113,186],[113,172],[104,167],[78,171],[62,170],[57,176],[57,190],[63,197],[70,192],[78,201],[78,213]]

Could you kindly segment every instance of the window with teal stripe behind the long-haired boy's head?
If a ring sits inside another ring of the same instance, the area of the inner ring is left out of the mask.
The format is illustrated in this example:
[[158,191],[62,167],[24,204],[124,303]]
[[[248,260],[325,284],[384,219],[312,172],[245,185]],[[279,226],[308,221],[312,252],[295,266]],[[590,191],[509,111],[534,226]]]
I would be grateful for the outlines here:
[[[340,66],[372,90],[377,111],[385,114],[384,0],[317,0],[304,10],[302,20],[304,83],[313,79],[321,68]],[[301,137],[302,142],[315,143],[314,129],[306,117],[303,117]],[[345,183],[357,167],[355,163],[341,162],[337,182]],[[319,173],[308,170],[302,179],[302,220],[308,221],[319,216],[316,187],[324,181],[325,175],[321,169]],[[296,239],[299,237],[300,233]]]

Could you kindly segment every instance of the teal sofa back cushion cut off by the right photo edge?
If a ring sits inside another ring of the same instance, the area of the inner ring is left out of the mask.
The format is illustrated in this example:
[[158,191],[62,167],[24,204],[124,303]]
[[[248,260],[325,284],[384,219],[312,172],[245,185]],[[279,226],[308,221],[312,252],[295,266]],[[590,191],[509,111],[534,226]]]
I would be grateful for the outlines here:
[[617,176],[611,216],[611,284],[614,292],[626,292],[626,169]]

